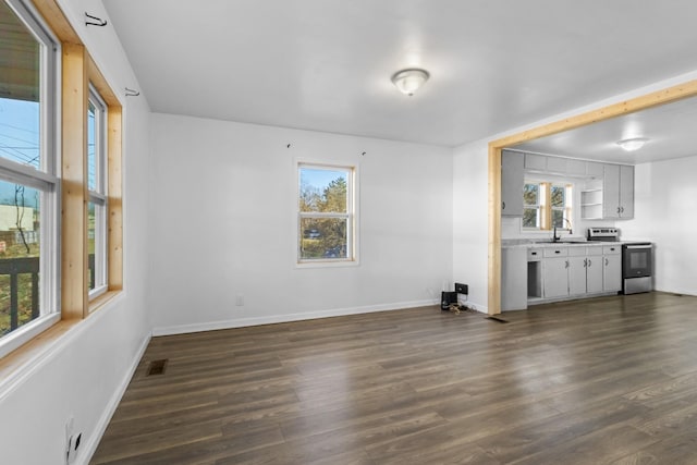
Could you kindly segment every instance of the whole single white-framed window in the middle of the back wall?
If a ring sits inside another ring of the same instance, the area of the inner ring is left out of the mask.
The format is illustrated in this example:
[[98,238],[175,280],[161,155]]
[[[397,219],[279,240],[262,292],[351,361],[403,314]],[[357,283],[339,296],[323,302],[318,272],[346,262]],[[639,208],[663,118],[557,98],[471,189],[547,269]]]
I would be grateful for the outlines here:
[[355,261],[355,168],[298,163],[297,261]]

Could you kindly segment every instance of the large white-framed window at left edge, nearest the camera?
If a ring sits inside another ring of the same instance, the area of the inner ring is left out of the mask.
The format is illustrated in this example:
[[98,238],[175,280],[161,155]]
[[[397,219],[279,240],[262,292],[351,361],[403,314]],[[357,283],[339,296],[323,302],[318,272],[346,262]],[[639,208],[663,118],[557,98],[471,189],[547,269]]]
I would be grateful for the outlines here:
[[57,76],[52,34],[0,0],[0,356],[60,319]]

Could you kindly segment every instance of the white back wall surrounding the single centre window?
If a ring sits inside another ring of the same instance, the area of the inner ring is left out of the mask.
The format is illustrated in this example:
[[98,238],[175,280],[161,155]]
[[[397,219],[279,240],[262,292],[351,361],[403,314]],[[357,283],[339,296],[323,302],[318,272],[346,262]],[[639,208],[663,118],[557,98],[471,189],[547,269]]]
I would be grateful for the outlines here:
[[[435,304],[452,285],[450,149],[168,114],[152,148],[155,333]],[[295,266],[297,158],[358,166],[358,266]]]

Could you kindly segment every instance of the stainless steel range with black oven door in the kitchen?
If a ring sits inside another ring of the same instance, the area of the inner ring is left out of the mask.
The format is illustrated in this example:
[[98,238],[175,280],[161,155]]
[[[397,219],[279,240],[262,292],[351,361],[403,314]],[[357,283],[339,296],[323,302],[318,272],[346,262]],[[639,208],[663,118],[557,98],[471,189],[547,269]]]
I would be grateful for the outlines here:
[[[588,241],[617,242],[616,228],[588,228]],[[653,244],[650,242],[622,243],[622,293],[637,294],[653,289]]]

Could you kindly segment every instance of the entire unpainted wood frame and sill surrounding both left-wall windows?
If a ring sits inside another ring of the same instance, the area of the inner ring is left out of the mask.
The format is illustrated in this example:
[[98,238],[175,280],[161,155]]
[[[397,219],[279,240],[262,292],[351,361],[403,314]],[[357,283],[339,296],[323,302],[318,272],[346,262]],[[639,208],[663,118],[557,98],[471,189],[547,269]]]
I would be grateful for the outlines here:
[[[0,359],[0,377],[15,374],[70,328],[123,290],[123,110],[56,0],[27,0],[60,42],[60,318]],[[89,299],[87,243],[87,101],[89,84],[107,105],[107,292]]]

